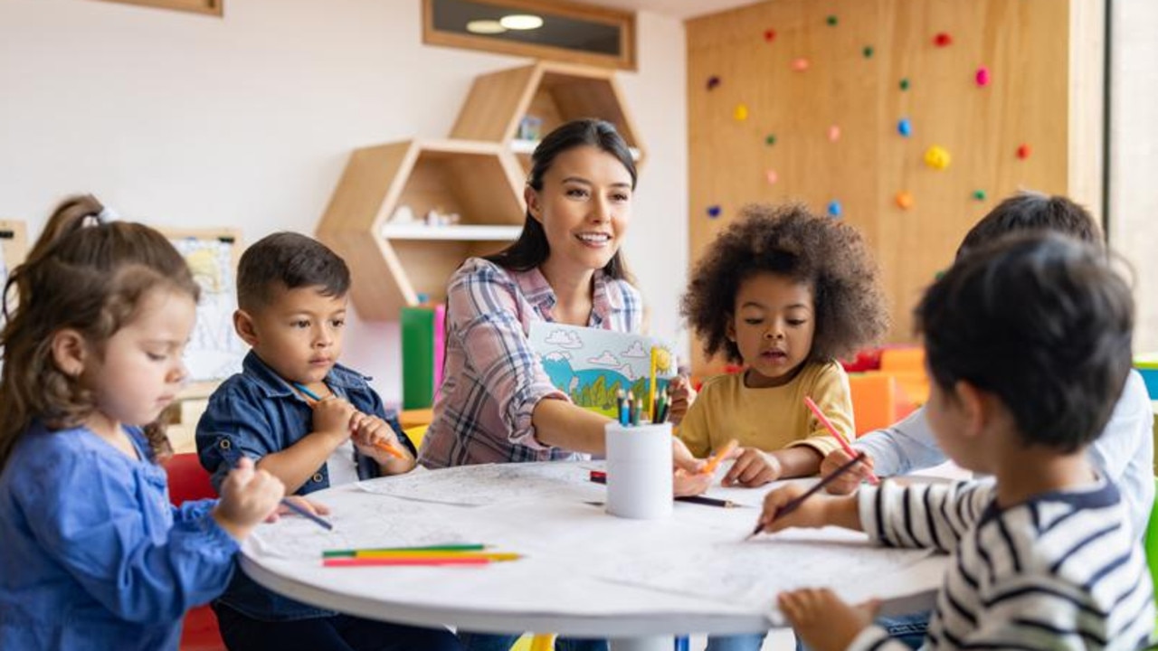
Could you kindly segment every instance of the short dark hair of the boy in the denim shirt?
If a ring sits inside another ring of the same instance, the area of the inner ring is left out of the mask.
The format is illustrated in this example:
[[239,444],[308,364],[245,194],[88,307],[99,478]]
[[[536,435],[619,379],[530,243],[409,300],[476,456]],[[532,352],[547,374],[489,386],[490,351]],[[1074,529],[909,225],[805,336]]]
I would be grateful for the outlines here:
[[277,286],[321,287],[324,297],[350,291],[350,268],[325,244],[300,233],[273,233],[254,242],[237,263],[237,307],[264,307]]

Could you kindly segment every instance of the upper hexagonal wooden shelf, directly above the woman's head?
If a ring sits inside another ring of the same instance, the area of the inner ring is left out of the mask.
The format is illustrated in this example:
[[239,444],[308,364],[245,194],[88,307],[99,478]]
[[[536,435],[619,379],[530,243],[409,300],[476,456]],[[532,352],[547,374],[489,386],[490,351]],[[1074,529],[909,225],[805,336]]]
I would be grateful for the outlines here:
[[537,141],[518,136],[519,123],[528,115],[542,120],[540,133],[543,134],[572,119],[606,119],[626,140],[635,159],[643,159],[643,146],[615,73],[606,68],[554,61],[538,61],[476,78],[450,137],[503,142],[519,154],[523,167],[527,167],[528,156]]

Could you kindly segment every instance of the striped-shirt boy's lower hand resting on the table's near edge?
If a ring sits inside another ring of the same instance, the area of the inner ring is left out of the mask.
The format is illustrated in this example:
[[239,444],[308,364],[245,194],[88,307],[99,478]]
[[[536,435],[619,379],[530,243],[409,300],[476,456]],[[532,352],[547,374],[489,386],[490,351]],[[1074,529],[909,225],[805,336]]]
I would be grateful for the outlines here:
[[815,651],[848,649],[880,608],[875,600],[850,606],[828,588],[782,592],[777,602],[797,636]]

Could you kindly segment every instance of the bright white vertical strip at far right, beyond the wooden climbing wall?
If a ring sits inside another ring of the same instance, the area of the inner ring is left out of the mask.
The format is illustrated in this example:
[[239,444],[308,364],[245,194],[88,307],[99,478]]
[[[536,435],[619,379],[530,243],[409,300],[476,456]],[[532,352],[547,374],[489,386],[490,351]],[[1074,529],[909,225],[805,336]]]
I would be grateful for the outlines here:
[[1134,348],[1158,352],[1158,2],[1112,7],[1109,242],[1136,275]]

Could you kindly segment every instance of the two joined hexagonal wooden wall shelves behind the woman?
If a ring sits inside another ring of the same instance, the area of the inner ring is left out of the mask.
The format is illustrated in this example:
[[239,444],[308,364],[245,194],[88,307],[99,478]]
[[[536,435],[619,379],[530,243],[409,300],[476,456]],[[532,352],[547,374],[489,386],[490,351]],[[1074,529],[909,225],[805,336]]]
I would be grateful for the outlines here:
[[[404,306],[446,298],[446,283],[471,256],[516,239],[532,140],[515,140],[527,115],[547,134],[565,122],[615,124],[637,161],[643,148],[611,71],[540,61],[477,78],[448,140],[404,140],[354,149],[317,237],[346,259],[362,319],[395,321]],[[400,206],[422,220],[457,213],[448,226],[391,222]]]

